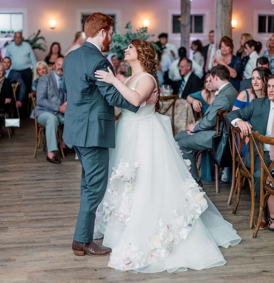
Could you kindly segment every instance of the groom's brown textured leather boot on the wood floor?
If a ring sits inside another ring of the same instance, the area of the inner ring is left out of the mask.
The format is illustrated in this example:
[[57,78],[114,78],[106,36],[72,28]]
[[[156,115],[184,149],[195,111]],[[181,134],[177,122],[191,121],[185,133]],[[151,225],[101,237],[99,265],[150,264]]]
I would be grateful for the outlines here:
[[90,256],[107,256],[111,252],[111,248],[100,247],[95,242],[86,244],[76,241],[72,243],[72,250],[77,256],[84,256],[85,253]]

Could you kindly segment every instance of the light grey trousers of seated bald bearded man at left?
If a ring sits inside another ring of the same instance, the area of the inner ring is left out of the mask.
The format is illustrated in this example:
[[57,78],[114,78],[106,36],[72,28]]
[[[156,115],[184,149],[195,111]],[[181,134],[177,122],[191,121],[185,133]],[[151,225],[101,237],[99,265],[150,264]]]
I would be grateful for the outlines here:
[[[58,150],[56,135],[59,124],[64,124],[64,114],[58,112],[55,115],[52,112],[45,111],[37,117],[37,122],[46,126],[46,143],[48,152]],[[68,148],[72,148],[72,145],[68,143],[66,143],[66,146]]]

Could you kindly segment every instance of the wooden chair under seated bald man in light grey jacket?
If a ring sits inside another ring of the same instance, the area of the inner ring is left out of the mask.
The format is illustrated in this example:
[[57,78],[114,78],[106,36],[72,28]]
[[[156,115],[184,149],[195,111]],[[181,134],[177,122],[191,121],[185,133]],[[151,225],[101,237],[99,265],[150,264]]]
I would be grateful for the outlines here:
[[[40,147],[40,143],[41,143],[42,138],[43,138],[43,150],[46,151],[46,133],[45,133],[46,127],[44,125],[40,125],[37,122],[35,98],[36,98],[36,91],[30,92],[29,93],[29,99],[31,100],[31,103],[33,105],[34,121],[35,121],[35,148],[34,148],[33,157],[36,157],[37,149],[38,149],[38,147]],[[57,135],[58,135],[58,141],[59,141],[60,151],[61,151],[62,157],[65,158],[64,151],[63,151],[63,148],[62,148],[63,129],[64,129],[64,124],[60,124],[58,126]]]

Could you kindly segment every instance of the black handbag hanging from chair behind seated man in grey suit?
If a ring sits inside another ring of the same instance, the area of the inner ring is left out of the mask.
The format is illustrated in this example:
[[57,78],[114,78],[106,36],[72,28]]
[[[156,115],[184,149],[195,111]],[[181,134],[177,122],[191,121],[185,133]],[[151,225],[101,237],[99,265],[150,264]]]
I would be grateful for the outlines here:
[[231,133],[230,135],[228,134],[225,122],[223,122],[221,133],[212,137],[213,160],[220,167],[230,167],[232,165],[230,152],[231,135]]

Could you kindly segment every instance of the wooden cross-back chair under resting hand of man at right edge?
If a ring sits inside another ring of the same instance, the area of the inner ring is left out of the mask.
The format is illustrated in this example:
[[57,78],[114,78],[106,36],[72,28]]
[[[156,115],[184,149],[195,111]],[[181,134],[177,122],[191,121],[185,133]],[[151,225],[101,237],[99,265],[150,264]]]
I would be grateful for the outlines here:
[[[249,189],[250,189],[250,195],[251,195],[251,213],[250,213],[250,221],[249,221],[249,228],[253,228],[253,220],[254,220],[254,210],[255,210],[255,189],[254,189],[254,147],[253,147],[253,138],[249,136],[249,145],[250,145],[250,160],[251,160],[251,168],[247,168],[245,164],[243,163],[243,157],[241,156],[242,150],[243,150],[243,145],[245,144],[245,139],[246,136],[243,136],[241,139],[240,133],[241,130],[238,127],[233,127],[230,126],[232,130],[232,141],[233,141],[233,147],[232,147],[232,152],[235,157],[236,161],[236,156],[238,160],[237,164],[237,198],[235,201],[234,209],[232,211],[232,214],[235,214],[239,205],[240,201],[240,196],[241,196],[241,188],[243,186],[243,178],[246,178],[249,184]],[[236,136],[238,138],[238,144],[236,143]],[[235,178],[234,178],[235,179]],[[232,198],[234,189],[230,190],[230,197]],[[230,199],[230,198],[229,198]],[[259,225],[260,226],[260,225]]]

